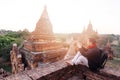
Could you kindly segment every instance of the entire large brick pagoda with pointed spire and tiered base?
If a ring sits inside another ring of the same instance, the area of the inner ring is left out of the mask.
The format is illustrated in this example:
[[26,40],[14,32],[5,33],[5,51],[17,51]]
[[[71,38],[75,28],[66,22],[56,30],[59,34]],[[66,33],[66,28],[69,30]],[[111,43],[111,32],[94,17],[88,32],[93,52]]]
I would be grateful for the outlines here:
[[44,7],[35,30],[20,50],[27,65],[31,68],[39,66],[40,63],[55,62],[66,54],[67,49],[63,47],[62,42],[55,39],[52,30],[47,8]]

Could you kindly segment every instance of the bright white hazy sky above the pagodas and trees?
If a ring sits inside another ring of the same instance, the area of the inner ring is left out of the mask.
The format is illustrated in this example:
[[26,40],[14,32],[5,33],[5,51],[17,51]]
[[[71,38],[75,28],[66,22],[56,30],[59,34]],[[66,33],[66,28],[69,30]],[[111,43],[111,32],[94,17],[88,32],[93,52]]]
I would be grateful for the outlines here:
[[120,0],[0,0],[0,29],[33,31],[44,6],[54,33],[120,34]]

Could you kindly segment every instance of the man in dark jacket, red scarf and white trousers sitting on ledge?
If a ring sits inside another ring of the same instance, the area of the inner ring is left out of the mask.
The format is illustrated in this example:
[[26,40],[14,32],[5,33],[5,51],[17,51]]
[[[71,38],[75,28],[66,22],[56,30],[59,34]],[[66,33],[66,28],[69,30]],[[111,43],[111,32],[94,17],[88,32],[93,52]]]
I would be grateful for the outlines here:
[[94,38],[89,38],[87,45],[87,47],[80,47],[72,61],[67,62],[67,64],[82,64],[89,67],[92,71],[97,71],[104,67],[103,63],[107,59],[107,55],[103,55],[103,51],[96,46],[96,40]]

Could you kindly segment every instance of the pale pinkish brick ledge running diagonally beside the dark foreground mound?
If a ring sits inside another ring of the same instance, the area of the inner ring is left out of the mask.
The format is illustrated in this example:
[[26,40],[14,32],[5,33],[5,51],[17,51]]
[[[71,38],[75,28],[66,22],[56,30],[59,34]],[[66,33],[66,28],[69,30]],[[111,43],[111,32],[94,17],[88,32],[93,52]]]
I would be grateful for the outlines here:
[[[62,64],[60,65],[60,63]],[[55,63],[39,66],[38,68],[32,70],[26,70],[18,74],[13,74],[6,77],[5,80],[36,80],[66,66],[67,65],[63,62],[63,60],[61,60]]]

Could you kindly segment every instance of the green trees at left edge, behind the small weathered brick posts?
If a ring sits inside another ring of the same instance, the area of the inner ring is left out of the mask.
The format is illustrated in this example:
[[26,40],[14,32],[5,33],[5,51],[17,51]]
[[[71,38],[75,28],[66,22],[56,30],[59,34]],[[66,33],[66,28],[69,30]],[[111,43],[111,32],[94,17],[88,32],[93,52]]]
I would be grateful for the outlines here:
[[19,46],[24,39],[27,39],[28,35],[29,32],[18,31],[8,32],[7,34],[0,36],[0,57],[3,57],[3,59],[8,61],[12,44],[17,43]]

